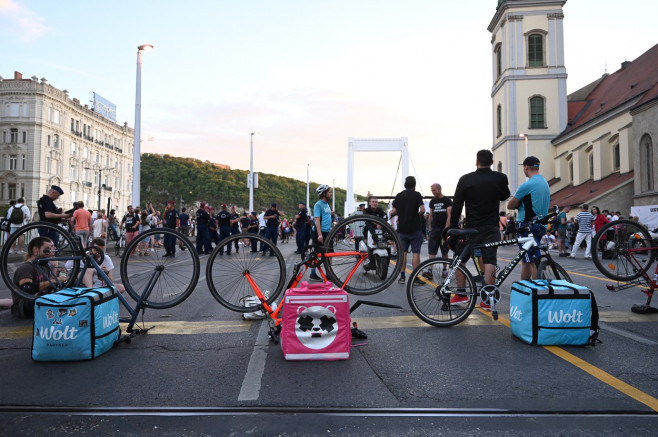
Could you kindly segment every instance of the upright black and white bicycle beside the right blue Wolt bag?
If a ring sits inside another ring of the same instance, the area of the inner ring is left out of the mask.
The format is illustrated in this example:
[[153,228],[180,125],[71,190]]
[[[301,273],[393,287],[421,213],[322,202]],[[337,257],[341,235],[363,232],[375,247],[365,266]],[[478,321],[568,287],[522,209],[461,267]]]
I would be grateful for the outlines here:
[[[534,224],[547,224],[551,217],[555,215],[557,215],[557,212],[541,218],[535,217],[528,223],[526,230],[529,231]],[[473,312],[478,297],[491,307],[491,315],[494,320],[497,320],[496,304],[500,302],[501,296],[499,287],[533,247],[539,247],[543,251],[538,260],[537,277],[539,279],[564,279],[571,282],[566,270],[551,257],[546,246],[537,244],[531,233],[528,237],[472,244],[468,239],[474,234],[477,234],[476,229],[451,229],[449,235],[460,240],[458,247],[453,249],[455,256],[452,259],[427,259],[421,262],[409,276],[407,280],[409,306],[416,316],[425,323],[438,327],[461,323]],[[517,243],[522,244],[522,247],[514,259],[496,275],[496,281],[493,285],[487,284],[474,251],[485,247],[511,246]],[[475,264],[475,277],[466,267],[469,258],[472,258]],[[432,272],[431,277],[433,279],[423,276],[423,273],[428,269]],[[446,271],[445,277],[443,277],[444,271]],[[451,304],[450,300],[456,295],[464,296],[467,300],[459,304]]]

